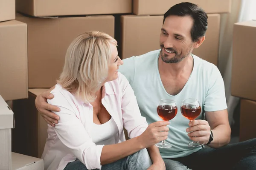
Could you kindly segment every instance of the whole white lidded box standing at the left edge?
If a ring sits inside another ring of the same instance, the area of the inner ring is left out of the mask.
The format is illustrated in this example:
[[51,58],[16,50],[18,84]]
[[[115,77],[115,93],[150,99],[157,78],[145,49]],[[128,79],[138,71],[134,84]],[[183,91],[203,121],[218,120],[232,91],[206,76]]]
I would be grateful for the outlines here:
[[0,95],[0,170],[11,169],[11,129],[14,114]]

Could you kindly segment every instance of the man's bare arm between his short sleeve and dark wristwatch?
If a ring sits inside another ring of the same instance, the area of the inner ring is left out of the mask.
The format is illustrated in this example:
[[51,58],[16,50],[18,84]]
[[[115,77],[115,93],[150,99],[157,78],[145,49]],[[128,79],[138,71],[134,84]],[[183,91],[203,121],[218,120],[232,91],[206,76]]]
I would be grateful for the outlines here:
[[227,109],[213,112],[206,111],[205,114],[213,133],[213,141],[208,146],[218,148],[228,144],[231,128],[228,122]]

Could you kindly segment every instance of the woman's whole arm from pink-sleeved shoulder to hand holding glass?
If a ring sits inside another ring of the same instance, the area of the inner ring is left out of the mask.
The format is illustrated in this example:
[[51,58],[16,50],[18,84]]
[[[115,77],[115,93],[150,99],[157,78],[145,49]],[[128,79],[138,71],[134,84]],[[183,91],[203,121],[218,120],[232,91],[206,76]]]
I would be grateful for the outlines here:
[[54,127],[55,132],[61,142],[72,150],[87,169],[100,169],[103,164],[122,159],[167,138],[168,132],[160,131],[165,131],[169,122],[159,121],[151,124],[145,132],[134,139],[118,144],[96,146],[84,125],[76,117],[72,103],[68,102],[61,93],[53,92],[53,94],[55,97],[48,102],[60,108],[59,112],[55,112],[60,117]]

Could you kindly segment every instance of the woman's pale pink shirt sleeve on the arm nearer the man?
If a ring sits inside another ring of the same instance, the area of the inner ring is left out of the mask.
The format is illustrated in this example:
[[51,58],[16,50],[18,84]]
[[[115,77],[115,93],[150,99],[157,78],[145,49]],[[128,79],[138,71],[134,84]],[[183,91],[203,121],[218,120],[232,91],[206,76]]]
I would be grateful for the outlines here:
[[122,119],[128,137],[140,136],[148,127],[145,117],[141,116],[140,109],[128,80],[119,74],[119,83],[122,90]]

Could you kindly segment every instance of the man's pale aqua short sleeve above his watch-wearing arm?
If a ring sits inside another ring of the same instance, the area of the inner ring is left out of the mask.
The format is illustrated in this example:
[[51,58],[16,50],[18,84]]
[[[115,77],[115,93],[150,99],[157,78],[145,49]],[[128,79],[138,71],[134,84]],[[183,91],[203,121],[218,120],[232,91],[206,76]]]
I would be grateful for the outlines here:
[[209,77],[209,88],[204,101],[204,111],[221,111],[227,109],[224,81],[216,66]]

